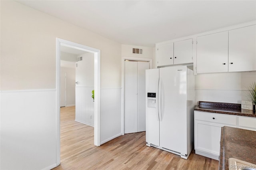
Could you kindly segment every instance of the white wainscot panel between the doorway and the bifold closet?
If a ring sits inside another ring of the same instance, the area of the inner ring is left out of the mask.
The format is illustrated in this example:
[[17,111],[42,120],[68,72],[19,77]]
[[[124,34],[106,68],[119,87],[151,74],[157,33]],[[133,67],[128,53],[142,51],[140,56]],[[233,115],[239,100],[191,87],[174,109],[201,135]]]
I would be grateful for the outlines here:
[[101,89],[100,144],[121,136],[121,89]]

